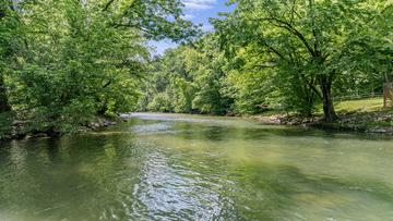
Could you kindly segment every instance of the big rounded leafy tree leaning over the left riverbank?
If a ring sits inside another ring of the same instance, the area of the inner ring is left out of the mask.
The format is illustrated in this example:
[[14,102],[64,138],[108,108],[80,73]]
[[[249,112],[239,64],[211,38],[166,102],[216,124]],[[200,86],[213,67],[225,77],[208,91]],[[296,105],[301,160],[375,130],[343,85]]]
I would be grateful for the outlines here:
[[[24,17],[29,54],[5,78],[13,109],[28,110],[22,118],[41,122],[38,131],[63,131],[97,114],[130,110],[147,56],[139,33],[103,23],[98,5],[47,1],[33,9],[40,17]],[[49,16],[57,19],[44,20]]]

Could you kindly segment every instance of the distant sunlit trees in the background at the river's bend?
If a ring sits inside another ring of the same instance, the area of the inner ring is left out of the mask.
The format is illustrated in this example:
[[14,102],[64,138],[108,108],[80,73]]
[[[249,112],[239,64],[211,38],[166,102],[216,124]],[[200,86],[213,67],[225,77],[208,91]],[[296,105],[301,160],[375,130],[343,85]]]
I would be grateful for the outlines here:
[[192,46],[168,50],[152,66],[140,110],[223,114],[233,99],[225,94],[226,59],[207,35]]

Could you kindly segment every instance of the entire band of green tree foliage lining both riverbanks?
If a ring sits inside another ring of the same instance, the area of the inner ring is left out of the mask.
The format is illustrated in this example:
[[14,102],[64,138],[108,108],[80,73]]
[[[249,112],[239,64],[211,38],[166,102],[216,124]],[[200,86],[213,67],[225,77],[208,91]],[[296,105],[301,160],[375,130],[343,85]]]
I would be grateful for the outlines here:
[[[228,2],[198,38],[180,0],[0,0],[0,114],[36,132],[135,109],[311,115],[322,105],[333,121],[334,96],[393,79],[391,1]],[[146,41],[164,38],[181,45],[152,60]]]

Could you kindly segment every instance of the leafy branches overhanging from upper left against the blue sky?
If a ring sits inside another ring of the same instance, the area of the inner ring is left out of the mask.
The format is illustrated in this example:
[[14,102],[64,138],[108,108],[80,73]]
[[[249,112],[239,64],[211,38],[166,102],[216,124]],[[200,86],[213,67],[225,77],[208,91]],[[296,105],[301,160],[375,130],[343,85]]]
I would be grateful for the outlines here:
[[176,42],[187,41],[199,35],[199,29],[181,19],[180,0],[106,0],[103,11],[112,13],[110,23],[116,28],[135,28],[144,37]]

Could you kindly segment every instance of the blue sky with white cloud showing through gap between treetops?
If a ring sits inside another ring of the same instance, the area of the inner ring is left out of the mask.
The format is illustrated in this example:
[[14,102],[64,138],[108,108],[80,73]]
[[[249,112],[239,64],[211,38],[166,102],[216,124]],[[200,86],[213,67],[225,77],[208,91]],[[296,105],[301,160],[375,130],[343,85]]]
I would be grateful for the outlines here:
[[[182,3],[184,4],[183,19],[194,24],[202,24],[205,32],[213,30],[209,17],[217,17],[218,12],[230,10],[225,5],[226,0],[182,0]],[[177,46],[170,40],[151,41],[150,45],[155,48],[156,54],[163,54],[166,49]]]

